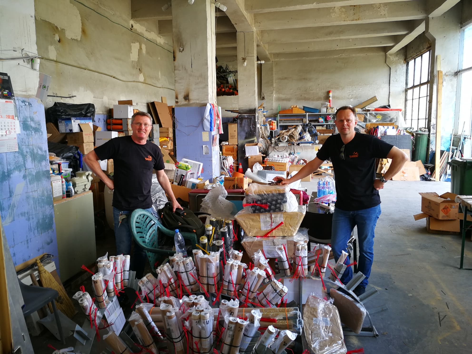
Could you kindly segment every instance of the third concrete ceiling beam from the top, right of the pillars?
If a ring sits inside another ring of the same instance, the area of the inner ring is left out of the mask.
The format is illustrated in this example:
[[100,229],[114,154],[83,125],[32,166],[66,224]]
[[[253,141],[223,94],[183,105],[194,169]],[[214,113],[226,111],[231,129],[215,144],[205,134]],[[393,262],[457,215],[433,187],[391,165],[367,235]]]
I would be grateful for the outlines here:
[[410,21],[394,21],[372,24],[287,28],[261,31],[260,34],[263,43],[272,44],[399,35],[407,34],[410,30]]

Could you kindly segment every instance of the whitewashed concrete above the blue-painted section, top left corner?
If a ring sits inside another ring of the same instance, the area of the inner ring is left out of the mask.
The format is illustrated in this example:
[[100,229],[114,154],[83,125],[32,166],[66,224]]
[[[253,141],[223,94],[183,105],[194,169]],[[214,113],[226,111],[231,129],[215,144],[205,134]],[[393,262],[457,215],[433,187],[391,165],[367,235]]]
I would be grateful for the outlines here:
[[[34,0],[1,1],[0,57],[21,57],[37,52]],[[33,70],[31,60],[0,61],[0,72],[11,77],[15,94],[36,94],[39,72]]]

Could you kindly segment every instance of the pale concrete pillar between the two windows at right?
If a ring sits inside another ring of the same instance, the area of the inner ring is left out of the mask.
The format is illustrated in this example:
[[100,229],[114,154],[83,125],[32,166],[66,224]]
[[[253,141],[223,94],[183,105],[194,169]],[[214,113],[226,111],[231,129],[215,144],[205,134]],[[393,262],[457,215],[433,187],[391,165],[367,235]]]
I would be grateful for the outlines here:
[[[454,75],[459,68],[461,4],[455,5],[444,15],[426,18],[425,34],[431,41],[430,58],[430,99],[428,107],[428,123],[430,123],[430,148],[434,149],[436,136],[436,105],[437,105],[437,56],[441,56],[440,68],[443,71],[442,119],[441,119],[441,150],[448,150],[451,143],[455,123],[455,96],[457,77]],[[429,156],[429,153],[428,153]]]

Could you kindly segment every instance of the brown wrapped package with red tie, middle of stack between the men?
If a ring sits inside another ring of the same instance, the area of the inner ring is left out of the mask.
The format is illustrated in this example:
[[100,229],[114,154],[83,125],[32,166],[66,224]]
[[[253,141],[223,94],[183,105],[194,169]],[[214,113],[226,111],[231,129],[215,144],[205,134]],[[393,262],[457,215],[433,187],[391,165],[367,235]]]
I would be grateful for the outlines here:
[[304,205],[297,205],[296,210],[290,212],[250,213],[243,209],[235,219],[247,236],[295,236],[305,212]]

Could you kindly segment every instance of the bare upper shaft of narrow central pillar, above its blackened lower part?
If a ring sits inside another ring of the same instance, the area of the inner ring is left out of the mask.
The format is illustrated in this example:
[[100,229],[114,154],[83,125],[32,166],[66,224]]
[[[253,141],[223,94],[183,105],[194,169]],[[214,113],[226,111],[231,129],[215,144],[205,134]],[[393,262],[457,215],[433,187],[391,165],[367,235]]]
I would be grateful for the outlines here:
[[254,110],[257,108],[256,34],[238,32],[236,43],[239,109]]

